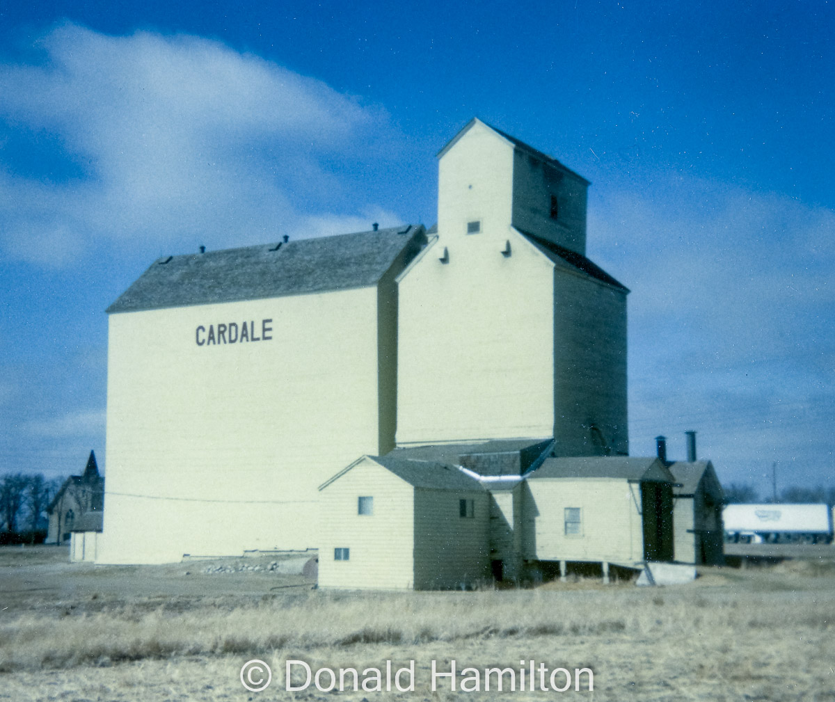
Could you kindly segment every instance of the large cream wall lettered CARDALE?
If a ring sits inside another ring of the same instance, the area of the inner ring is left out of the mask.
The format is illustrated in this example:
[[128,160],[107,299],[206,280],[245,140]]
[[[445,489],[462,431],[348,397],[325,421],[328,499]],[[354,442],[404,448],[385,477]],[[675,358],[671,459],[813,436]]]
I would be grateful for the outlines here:
[[377,323],[374,287],[111,315],[99,562],[316,547],[317,486],[380,449]]

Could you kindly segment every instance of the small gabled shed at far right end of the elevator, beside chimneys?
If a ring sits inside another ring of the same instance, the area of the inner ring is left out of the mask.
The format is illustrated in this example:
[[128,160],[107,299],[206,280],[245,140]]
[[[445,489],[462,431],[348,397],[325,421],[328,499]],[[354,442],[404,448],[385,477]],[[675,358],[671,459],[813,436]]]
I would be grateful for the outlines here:
[[725,562],[722,550],[722,487],[710,461],[679,461],[670,472],[673,488],[676,561],[705,565]]

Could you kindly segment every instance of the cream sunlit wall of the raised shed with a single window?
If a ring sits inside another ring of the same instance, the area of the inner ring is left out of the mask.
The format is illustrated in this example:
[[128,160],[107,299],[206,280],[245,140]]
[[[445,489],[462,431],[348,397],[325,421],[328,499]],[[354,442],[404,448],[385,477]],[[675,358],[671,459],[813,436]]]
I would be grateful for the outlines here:
[[[525,558],[543,561],[643,560],[640,491],[625,480],[529,480]],[[581,535],[565,533],[565,508],[582,510]]]

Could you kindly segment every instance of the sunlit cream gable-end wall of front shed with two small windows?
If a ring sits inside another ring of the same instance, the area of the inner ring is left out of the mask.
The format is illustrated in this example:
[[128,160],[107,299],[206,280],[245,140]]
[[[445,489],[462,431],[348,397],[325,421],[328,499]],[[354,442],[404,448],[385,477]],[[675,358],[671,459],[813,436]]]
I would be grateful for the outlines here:
[[[412,588],[413,488],[366,458],[320,495],[319,585],[323,588]],[[357,513],[359,497],[373,513]],[[334,559],[348,548],[347,561]]]

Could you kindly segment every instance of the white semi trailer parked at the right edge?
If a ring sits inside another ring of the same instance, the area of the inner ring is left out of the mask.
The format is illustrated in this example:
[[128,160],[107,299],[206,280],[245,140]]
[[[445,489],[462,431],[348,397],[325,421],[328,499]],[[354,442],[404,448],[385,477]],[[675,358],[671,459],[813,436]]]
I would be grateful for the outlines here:
[[726,543],[832,543],[826,504],[729,504],[722,521]]

